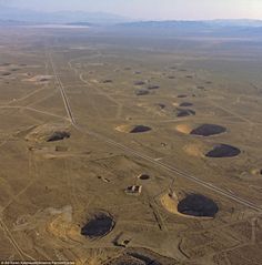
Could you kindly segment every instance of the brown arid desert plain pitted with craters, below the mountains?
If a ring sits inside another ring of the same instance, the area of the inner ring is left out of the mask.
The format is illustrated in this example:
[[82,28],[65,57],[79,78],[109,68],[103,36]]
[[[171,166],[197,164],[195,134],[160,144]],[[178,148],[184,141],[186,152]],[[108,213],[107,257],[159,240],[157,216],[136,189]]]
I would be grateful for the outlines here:
[[262,38],[0,34],[1,261],[262,264]]

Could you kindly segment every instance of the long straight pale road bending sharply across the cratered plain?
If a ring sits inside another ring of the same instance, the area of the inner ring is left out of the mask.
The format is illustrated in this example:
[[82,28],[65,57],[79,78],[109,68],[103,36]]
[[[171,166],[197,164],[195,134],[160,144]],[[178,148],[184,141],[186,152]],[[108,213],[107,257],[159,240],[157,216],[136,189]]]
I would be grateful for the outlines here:
[[118,143],[118,142],[115,142],[115,141],[113,141],[113,140],[111,140],[111,139],[109,139],[109,137],[107,137],[107,136],[104,136],[104,135],[102,135],[100,133],[82,129],[75,122],[75,119],[73,116],[73,112],[72,112],[72,110],[70,108],[70,104],[69,104],[69,99],[68,99],[67,93],[64,91],[64,88],[63,88],[63,84],[61,82],[61,79],[60,79],[60,77],[57,73],[56,65],[53,63],[51,53],[50,53],[50,63],[52,65],[53,74],[54,74],[54,77],[56,77],[56,79],[58,81],[58,84],[59,84],[59,89],[60,89],[60,92],[61,92],[61,96],[63,99],[63,103],[64,103],[64,108],[66,108],[67,113],[68,113],[68,118],[69,118],[71,124],[78,131],[80,131],[80,132],[82,132],[84,134],[93,135],[94,137],[103,141],[104,143],[110,144],[110,145],[112,145],[114,147],[118,147],[118,149],[124,151],[125,153],[129,153],[129,154],[131,154],[131,155],[133,155],[133,156],[135,156],[138,159],[142,159],[144,161],[150,162],[151,164],[154,164],[154,165],[160,166],[160,167],[162,167],[162,169],[164,169],[164,170],[167,170],[167,171],[169,171],[171,173],[174,173],[175,176],[180,176],[180,177],[187,179],[187,180],[189,180],[191,182],[194,182],[194,183],[196,183],[196,184],[199,184],[201,186],[204,186],[204,187],[206,187],[206,188],[209,188],[209,190],[211,190],[211,191],[213,191],[213,192],[215,192],[215,193],[218,193],[220,195],[223,195],[224,197],[228,197],[228,198],[230,198],[230,200],[232,200],[232,201],[234,201],[234,202],[236,202],[239,204],[242,204],[242,205],[244,205],[244,206],[246,206],[249,208],[252,208],[252,210],[254,210],[256,212],[262,212],[262,207],[261,206],[255,205],[254,203],[252,203],[252,202],[250,202],[250,201],[248,201],[245,198],[242,198],[242,197],[240,197],[238,195],[234,195],[233,193],[230,193],[228,191],[224,191],[224,190],[222,190],[222,188],[220,188],[220,187],[218,187],[218,186],[215,186],[215,185],[213,185],[213,184],[211,184],[209,182],[202,181],[201,179],[199,179],[199,177],[196,177],[196,176],[194,176],[192,174],[182,172],[182,171],[180,171],[179,169],[177,169],[174,166],[164,164],[164,163],[162,163],[160,161],[155,161],[153,157],[150,157],[150,156],[148,156],[145,154],[142,154],[141,152],[138,152],[138,151],[135,151],[133,149],[130,149],[130,147],[128,147],[128,146],[125,146],[125,145],[123,145],[121,143]]

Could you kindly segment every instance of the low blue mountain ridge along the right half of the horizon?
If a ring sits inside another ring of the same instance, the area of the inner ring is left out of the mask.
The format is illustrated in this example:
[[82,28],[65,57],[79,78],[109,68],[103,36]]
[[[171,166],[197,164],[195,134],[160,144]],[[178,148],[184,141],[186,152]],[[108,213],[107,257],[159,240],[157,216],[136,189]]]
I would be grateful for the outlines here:
[[262,20],[206,20],[206,21],[137,21],[119,23],[115,30],[130,34],[148,35],[224,35],[262,37]]

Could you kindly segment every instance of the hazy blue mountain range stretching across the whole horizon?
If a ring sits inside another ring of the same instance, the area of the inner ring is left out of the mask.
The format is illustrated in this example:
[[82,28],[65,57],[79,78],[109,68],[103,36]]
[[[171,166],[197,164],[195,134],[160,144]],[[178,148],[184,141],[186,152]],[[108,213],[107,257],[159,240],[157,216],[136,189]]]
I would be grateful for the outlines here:
[[223,28],[254,28],[260,32],[262,20],[167,20],[167,21],[135,21],[122,16],[104,12],[58,11],[42,12],[11,8],[0,4],[0,24],[34,24],[60,23],[78,26],[117,26],[129,29],[178,29],[188,31],[209,31]]

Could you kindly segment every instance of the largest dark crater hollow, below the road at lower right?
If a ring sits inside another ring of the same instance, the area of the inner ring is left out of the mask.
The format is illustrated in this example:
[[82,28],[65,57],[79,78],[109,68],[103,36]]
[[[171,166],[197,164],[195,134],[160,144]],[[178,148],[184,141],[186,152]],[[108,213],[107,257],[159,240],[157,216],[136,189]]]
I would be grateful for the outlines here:
[[202,194],[189,194],[179,202],[178,212],[196,217],[214,217],[219,206]]

